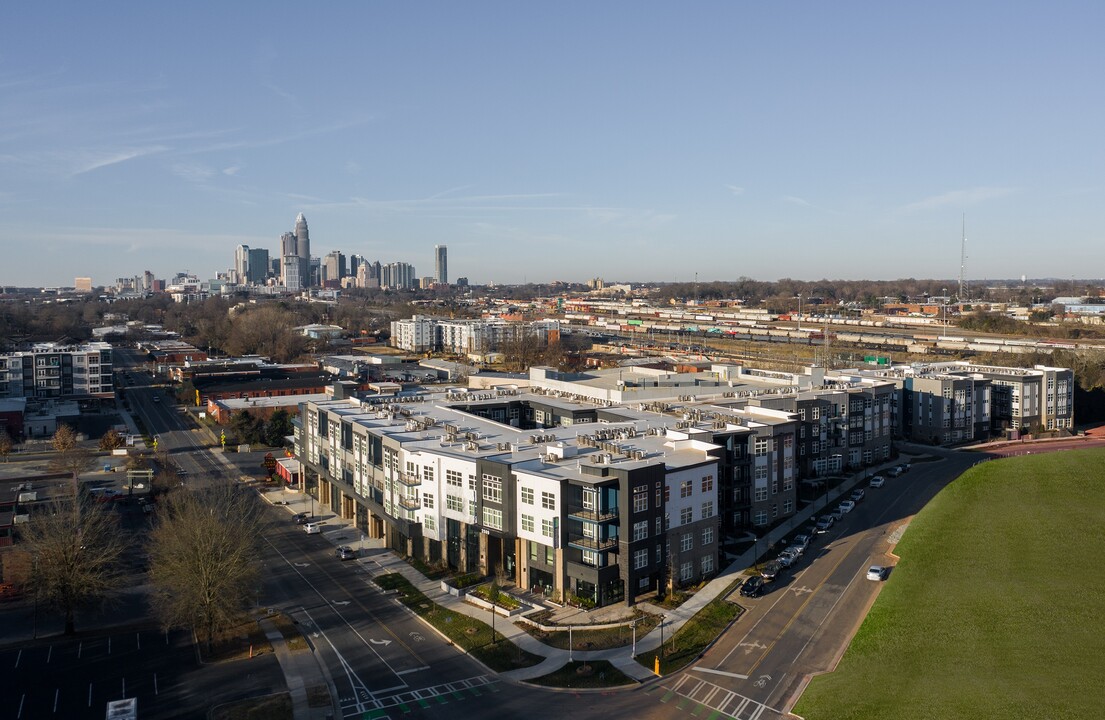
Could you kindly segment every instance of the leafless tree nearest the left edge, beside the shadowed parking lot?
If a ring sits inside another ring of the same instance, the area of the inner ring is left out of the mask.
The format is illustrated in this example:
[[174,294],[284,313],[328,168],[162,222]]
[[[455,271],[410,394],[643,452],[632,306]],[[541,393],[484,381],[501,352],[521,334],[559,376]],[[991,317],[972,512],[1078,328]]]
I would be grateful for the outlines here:
[[59,500],[32,516],[24,531],[31,555],[30,591],[75,631],[75,614],[112,597],[119,584],[124,544],[116,516],[90,497]]

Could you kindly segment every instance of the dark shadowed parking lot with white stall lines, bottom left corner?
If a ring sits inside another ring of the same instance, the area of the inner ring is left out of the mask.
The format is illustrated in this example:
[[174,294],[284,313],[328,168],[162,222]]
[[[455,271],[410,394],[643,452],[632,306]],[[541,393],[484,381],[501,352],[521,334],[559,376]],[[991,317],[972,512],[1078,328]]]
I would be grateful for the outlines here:
[[197,667],[191,636],[116,632],[0,652],[0,718],[104,717],[108,700],[138,698],[143,718],[186,714],[182,678]]

